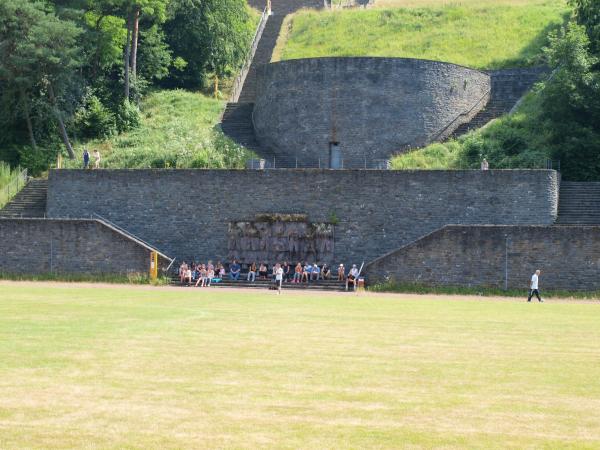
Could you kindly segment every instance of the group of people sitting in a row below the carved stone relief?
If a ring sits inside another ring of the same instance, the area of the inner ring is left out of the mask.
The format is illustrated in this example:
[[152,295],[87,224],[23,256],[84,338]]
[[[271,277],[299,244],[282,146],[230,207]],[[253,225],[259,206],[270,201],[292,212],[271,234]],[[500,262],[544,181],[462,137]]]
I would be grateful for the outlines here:
[[[188,284],[198,287],[208,287],[211,283],[221,282],[229,273],[231,280],[239,280],[242,276],[242,266],[236,260],[229,265],[229,272],[225,270],[225,266],[219,261],[216,265],[212,261],[207,264],[187,264],[185,261],[179,266],[179,279],[181,284]],[[331,268],[327,264],[319,265],[317,263],[297,263],[295,266],[284,262],[277,263],[271,266],[264,262],[257,264],[252,262],[247,265],[247,273],[244,274],[247,281],[254,283],[259,280],[273,280],[276,284],[284,282],[289,283],[310,283],[311,281],[330,280],[333,276]],[[346,290],[350,285],[356,287],[359,276],[359,270],[356,264],[346,273],[346,268],[340,264],[337,268],[337,280],[346,282]]]

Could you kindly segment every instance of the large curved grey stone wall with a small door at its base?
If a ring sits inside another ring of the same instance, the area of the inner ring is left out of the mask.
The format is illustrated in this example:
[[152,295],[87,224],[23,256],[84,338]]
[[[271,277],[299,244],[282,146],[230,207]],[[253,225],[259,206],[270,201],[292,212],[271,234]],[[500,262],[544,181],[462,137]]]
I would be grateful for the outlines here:
[[344,167],[361,168],[450,135],[485,106],[490,89],[488,74],[435,61],[283,61],[258,70],[254,128],[282,164],[329,167],[330,143],[339,142]]

